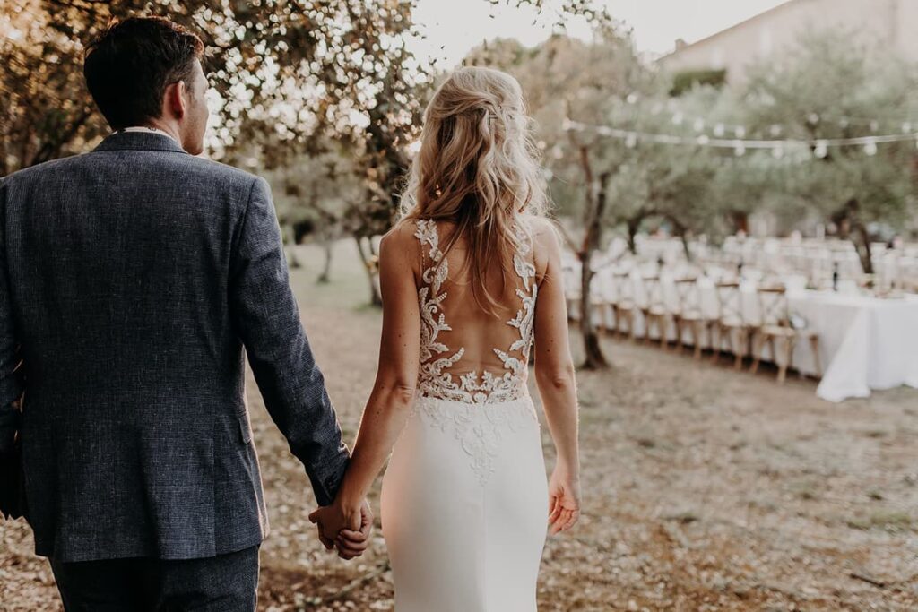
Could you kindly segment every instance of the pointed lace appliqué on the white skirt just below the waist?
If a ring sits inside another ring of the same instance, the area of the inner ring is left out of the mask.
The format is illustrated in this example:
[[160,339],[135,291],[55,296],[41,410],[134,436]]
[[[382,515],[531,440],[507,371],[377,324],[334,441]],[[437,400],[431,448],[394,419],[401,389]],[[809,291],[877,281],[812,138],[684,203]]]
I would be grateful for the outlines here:
[[482,486],[487,484],[488,478],[494,473],[494,462],[504,433],[540,427],[539,417],[529,397],[487,407],[420,397],[415,403],[415,409],[431,427],[443,433],[452,429],[453,436],[472,459],[472,471]]

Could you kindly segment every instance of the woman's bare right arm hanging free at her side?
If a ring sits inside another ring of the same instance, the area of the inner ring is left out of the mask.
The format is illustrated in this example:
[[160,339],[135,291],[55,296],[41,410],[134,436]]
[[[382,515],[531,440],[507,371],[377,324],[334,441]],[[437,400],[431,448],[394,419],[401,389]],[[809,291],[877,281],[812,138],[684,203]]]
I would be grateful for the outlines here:
[[549,484],[549,520],[556,533],[570,529],[580,513],[577,385],[567,340],[561,246],[548,223],[537,235],[536,245],[547,262],[535,305],[535,380],[557,451]]

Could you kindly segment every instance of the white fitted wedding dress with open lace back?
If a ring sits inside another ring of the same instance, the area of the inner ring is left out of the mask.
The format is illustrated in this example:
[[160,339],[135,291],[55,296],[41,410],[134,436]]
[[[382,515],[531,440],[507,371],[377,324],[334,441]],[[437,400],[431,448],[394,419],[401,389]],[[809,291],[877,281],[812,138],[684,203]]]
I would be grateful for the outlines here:
[[437,225],[417,225],[420,396],[389,460],[380,512],[396,612],[536,610],[548,527],[526,385],[538,287],[532,238],[517,234],[504,305],[517,315],[506,320],[487,316],[468,284],[450,278],[456,261],[441,251]]

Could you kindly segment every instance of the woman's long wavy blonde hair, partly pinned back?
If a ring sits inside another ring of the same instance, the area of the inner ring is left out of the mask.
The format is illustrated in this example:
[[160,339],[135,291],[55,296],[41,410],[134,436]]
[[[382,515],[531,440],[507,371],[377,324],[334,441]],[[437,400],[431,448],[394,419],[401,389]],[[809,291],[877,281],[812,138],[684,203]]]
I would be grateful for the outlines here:
[[[464,67],[437,89],[424,111],[420,150],[401,195],[404,219],[453,222],[444,254],[465,236],[476,302],[497,315],[487,263],[513,270],[521,216],[547,206],[520,83],[506,72]],[[445,261],[445,258],[444,260]]]

